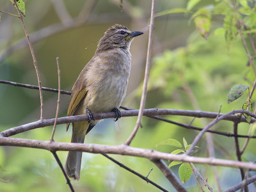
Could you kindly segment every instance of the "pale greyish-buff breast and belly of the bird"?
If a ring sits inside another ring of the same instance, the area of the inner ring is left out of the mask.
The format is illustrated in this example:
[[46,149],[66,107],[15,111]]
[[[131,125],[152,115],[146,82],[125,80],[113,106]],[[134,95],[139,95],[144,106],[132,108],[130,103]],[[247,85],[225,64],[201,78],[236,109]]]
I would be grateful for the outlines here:
[[[95,63],[94,63],[95,62]],[[118,49],[95,57],[88,70],[86,108],[93,113],[111,111],[124,100],[131,70],[131,54]]]

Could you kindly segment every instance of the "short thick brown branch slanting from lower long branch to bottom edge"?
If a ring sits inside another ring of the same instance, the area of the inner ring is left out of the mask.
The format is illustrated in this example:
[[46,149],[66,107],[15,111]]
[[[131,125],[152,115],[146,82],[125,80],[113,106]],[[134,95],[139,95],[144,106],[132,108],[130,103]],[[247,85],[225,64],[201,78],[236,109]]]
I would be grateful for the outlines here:
[[164,173],[164,176],[172,183],[173,187],[177,189],[179,192],[187,192],[187,190],[182,186],[179,179],[173,174],[173,172],[166,166],[162,159],[154,159],[152,160],[153,163]]

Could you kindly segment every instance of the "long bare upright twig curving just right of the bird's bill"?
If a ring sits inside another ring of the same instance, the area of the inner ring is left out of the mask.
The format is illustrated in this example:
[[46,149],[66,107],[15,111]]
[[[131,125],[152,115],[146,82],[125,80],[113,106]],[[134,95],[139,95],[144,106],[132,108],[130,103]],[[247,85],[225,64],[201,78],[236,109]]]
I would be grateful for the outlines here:
[[140,125],[141,125],[141,118],[143,115],[143,109],[145,108],[146,97],[147,97],[147,84],[148,84],[148,77],[150,71],[150,63],[151,63],[151,49],[152,49],[152,42],[153,42],[153,31],[154,31],[154,12],[155,12],[155,0],[152,0],[151,5],[151,16],[150,16],[150,25],[149,25],[149,35],[148,35],[148,50],[147,50],[147,61],[146,61],[146,68],[145,68],[145,77],[143,83],[143,91],[141,95],[141,102],[140,102],[140,111],[136,121],[136,125],[127,139],[125,141],[125,145],[130,145],[131,141],[135,137]]

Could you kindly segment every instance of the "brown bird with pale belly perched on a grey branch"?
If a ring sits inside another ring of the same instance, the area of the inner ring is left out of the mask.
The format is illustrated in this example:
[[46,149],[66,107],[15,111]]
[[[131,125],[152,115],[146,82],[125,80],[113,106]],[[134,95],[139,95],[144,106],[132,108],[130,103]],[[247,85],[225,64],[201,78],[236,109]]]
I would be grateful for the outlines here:
[[[72,88],[67,116],[88,115],[88,122],[72,123],[72,143],[84,143],[84,137],[100,122],[93,113],[115,112],[124,100],[131,70],[130,45],[141,31],[130,31],[121,24],[108,28],[92,59],[84,66]],[[69,123],[67,124],[68,131]],[[80,179],[81,151],[69,151],[65,163],[68,177]]]

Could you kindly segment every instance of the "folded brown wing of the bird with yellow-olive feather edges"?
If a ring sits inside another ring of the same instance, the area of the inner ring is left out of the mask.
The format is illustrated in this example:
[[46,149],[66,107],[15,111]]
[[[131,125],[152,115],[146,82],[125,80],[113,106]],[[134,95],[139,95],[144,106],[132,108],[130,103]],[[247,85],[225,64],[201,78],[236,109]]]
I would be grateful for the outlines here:
[[[78,82],[75,83],[74,86],[77,86]],[[86,97],[87,90],[85,87],[72,89],[71,97],[68,104],[68,113],[67,116],[72,116],[76,112],[81,101]],[[69,123],[67,123],[67,131],[68,131]]]

